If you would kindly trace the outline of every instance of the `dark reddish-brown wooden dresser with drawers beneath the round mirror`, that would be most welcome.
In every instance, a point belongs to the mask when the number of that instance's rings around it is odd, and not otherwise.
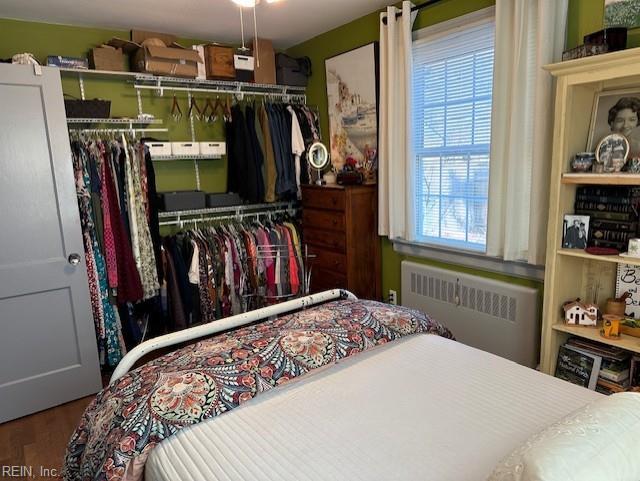
[[[302,228],[311,292],[344,288],[380,299],[380,239],[376,185],[302,186]]]

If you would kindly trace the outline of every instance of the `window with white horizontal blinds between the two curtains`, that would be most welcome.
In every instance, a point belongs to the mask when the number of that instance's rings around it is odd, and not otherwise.
[[[486,250],[493,18],[413,43],[415,238]]]

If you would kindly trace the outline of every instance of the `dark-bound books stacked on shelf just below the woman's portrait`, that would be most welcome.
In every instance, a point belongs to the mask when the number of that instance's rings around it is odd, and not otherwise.
[[[582,186],[576,189],[575,213],[590,216],[589,247],[627,250],[637,237],[640,188],[626,186]]]

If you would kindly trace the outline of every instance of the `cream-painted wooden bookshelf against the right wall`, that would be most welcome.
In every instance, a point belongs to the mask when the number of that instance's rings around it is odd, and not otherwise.
[[[619,340],[608,340],[600,336],[598,328],[571,326],[562,321],[563,303],[577,297],[591,300],[596,285],[602,309],[606,299],[615,294],[617,265],[640,266],[640,260],[561,248],[564,215],[574,212],[578,186],[640,186],[638,174],[572,173],[569,167],[572,156],[587,146],[596,95],[606,90],[640,90],[640,48],[570,60],[545,69],[556,77],[557,83],[540,368],[553,375],[558,350],[570,336],[640,353],[640,338],[623,335]]]

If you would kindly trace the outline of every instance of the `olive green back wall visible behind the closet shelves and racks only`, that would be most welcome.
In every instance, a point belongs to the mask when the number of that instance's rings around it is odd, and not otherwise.
[[[20,52],[30,52],[44,64],[47,55],[85,57],[92,47],[108,41],[111,37],[128,39],[129,32],[0,19],[0,58],[8,58]],[[180,39],[179,42],[184,46],[203,43],[192,39]],[[75,77],[63,77],[63,89],[65,94],[80,97],[80,87]],[[137,116],[135,90],[125,79],[98,80],[88,77],[85,80],[85,94],[89,99],[111,100],[112,117]],[[164,125],[152,127],[169,129],[168,133],[150,135],[163,140],[191,140],[186,117],[188,110],[186,92],[177,94],[184,114],[178,123],[174,122],[170,116],[173,95],[157,97],[152,91],[144,91],[142,98],[143,112],[164,120]],[[199,95],[196,98],[199,99],[198,104],[201,108],[204,107],[202,99],[206,96]],[[221,122],[220,120],[211,125],[196,121],[196,140],[224,140]],[[195,189],[196,177],[192,161],[156,162],[155,166],[159,191]],[[202,190],[206,192],[226,190],[226,159],[200,161],[199,166]]]

